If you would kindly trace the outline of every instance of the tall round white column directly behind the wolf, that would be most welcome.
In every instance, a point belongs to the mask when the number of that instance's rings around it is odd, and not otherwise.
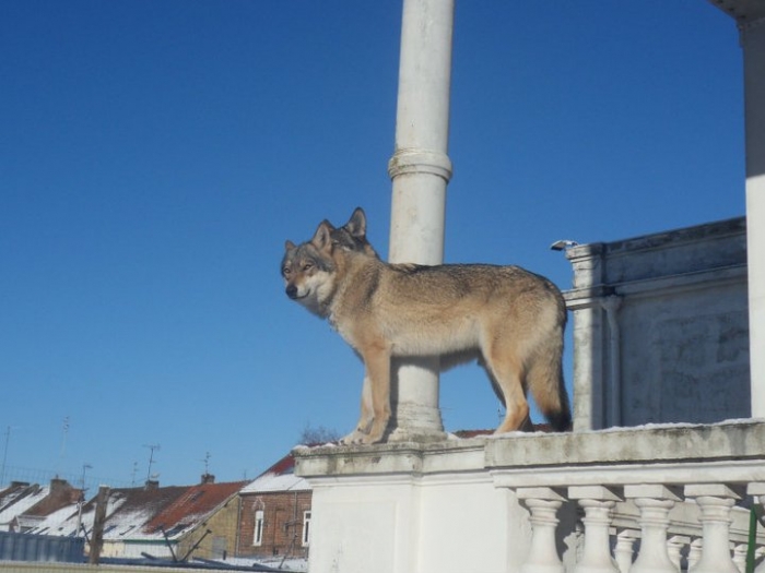
[[[404,0],[396,119],[389,261],[444,260],[454,0]],[[438,361],[396,361],[391,440],[442,439]]]

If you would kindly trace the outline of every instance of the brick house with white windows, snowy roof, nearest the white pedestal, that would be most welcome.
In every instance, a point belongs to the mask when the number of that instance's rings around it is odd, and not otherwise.
[[[290,453],[240,491],[237,556],[308,554],[311,489],[294,469]]]

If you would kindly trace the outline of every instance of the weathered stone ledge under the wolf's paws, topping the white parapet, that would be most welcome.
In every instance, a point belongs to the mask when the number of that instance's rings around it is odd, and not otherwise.
[[[624,474],[631,467],[683,464],[711,468],[745,463],[752,480],[760,473],[765,480],[765,420],[649,425],[576,433],[513,432],[436,443],[297,446],[293,454],[295,474],[308,479],[490,470],[538,474],[556,468],[589,473],[593,467],[619,468]],[[752,475],[752,463],[757,476]],[[760,466],[762,471],[756,469]]]

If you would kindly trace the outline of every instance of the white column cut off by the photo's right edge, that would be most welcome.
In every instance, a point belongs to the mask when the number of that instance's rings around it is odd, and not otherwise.
[[[765,17],[740,24],[744,57],[752,417],[765,418]]]

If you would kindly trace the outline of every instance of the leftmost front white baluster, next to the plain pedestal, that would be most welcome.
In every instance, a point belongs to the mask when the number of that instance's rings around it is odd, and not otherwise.
[[[531,545],[520,573],[564,573],[555,545],[555,514],[566,499],[552,488],[518,488],[516,494],[531,513]]]

